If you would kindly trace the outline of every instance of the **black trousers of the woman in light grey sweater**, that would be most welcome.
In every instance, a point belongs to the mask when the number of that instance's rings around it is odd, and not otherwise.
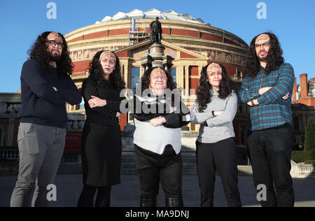
[[[196,141],[197,172],[201,191],[201,206],[214,206],[216,171],[221,177],[225,198],[229,207],[240,207],[237,149],[234,137],[217,143]]]

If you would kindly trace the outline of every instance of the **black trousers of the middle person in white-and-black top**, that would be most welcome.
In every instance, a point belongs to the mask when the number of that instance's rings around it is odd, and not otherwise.
[[[166,197],[181,198],[183,162],[172,145],[165,147],[162,155],[134,144],[135,162],[139,174],[141,197],[158,196],[160,183]]]

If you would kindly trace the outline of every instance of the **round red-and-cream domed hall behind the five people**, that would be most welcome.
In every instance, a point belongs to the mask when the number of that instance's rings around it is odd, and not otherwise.
[[[101,22],[71,31],[65,38],[69,44],[74,64],[72,78],[78,88],[87,78],[87,68],[99,50],[113,50],[120,58],[123,79],[128,88],[139,82],[144,67],[141,57],[148,55],[149,24],[159,17],[162,24],[162,45],[165,55],[171,56],[172,76],[183,93],[188,106],[193,105],[202,67],[209,62],[224,64],[230,76],[241,82],[241,70],[248,45],[238,36],[223,29],[211,27],[201,18],[179,14],[174,10],[162,13],[151,9],[138,9],[130,13],[118,12],[113,17],[105,16]],[[84,112],[80,106],[69,106],[70,112]],[[120,117],[121,127],[129,122]],[[195,131],[195,125],[189,125]]]

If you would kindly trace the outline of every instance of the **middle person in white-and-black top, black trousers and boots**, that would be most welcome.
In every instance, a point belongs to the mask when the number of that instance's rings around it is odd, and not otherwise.
[[[166,92],[173,90],[173,96],[168,96]],[[159,67],[145,71],[140,94],[133,101],[140,206],[157,206],[161,183],[166,206],[182,207],[181,127],[190,120],[189,109],[181,101],[172,76]]]

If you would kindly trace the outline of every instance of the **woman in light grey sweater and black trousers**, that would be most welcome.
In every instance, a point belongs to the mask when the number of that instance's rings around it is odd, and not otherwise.
[[[232,93],[225,67],[211,63],[202,69],[191,122],[201,124],[196,141],[201,206],[214,206],[216,170],[221,177],[228,206],[241,206],[237,187],[237,149],[232,121],[237,95]]]

